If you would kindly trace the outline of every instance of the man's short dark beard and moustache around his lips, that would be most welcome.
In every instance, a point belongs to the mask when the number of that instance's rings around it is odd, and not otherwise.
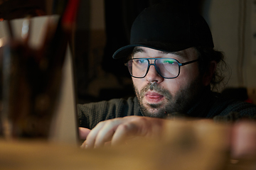
[[[203,85],[200,82],[201,79],[198,77],[191,84],[177,91],[175,95],[171,95],[168,90],[162,88],[156,82],[146,84],[141,91],[134,86],[134,90],[144,116],[165,118],[170,113],[186,115],[188,109],[191,108],[201,96]],[[143,98],[149,90],[156,91],[158,94],[164,96],[165,103],[144,103]]]

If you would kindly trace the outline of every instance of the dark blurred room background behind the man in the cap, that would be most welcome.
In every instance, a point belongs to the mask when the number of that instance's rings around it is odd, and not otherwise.
[[[147,6],[158,2],[161,0],[80,1],[70,40],[78,103],[134,96],[124,62],[113,60],[112,54],[129,44],[129,30],[134,18]],[[226,79],[217,90],[231,89],[228,94],[239,97],[241,93],[245,96],[242,100],[250,99],[256,103],[256,1],[183,2],[206,18],[215,48],[225,54]],[[61,14],[66,4],[65,0],[0,0],[0,22]]]

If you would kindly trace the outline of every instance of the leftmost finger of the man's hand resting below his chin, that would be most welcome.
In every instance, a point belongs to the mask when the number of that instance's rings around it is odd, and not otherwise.
[[[95,140],[97,137],[98,132],[102,129],[102,127],[104,127],[105,123],[107,123],[107,121],[103,121],[98,123],[95,128],[93,128],[89,135],[87,135],[86,141],[85,141],[85,146],[86,148],[93,148],[95,146]]]

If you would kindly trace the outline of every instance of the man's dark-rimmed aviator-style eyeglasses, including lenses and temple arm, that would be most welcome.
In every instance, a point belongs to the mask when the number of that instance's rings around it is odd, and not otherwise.
[[[150,64],[149,60],[154,60],[154,64]],[[173,58],[135,58],[129,60],[125,65],[129,69],[129,73],[135,78],[144,78],[149,72],[149,67],[154,65],[156,72],[164,79],[174,79],[180,74],[181,66],[197,62],[192,60],[190,62],[180,63]]]

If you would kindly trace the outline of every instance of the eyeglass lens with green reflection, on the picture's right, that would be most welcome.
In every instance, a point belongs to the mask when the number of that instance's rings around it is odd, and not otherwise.
[[[174,78],[178,76],[178,62],[174,59],[157,59],[156,69],[162,77]]]

